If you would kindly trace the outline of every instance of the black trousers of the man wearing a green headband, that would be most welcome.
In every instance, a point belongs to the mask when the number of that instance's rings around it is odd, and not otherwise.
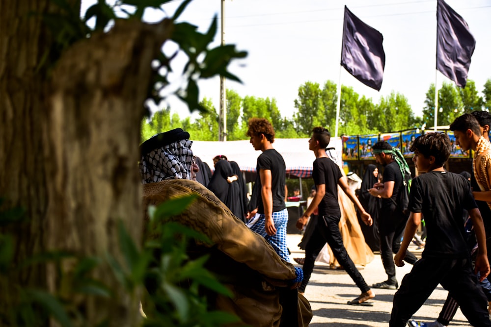
[[[397,211],[395,205],[390,208],[384,207],[380,211],[380,256],[385,274],[387,274],[387,281],[391,284],[397,283],[393,254],[401,248],[401,237],[404,235],[407,221],[408,219]],[[404,261],[413,265],[418,258],[409,251],[406,253]]]

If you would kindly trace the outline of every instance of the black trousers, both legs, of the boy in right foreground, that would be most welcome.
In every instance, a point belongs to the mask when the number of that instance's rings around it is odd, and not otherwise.
[[[406,327],[411,316],[441,284],[474,327],[491,327],[488,299],[472,271],[470,258],[426,257],[414,264],[394,295],[389,327]]]

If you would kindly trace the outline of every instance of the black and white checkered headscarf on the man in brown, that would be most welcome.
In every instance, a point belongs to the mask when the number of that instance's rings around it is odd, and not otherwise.
[[[190,140],[177,140],[142,153],[139,164],[141,182],[147,184],[164,179],[191,179],[191,145]]]

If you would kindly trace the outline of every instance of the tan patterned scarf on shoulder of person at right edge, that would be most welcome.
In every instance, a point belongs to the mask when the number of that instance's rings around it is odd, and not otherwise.
[[[472,160],[474,177],[481,191],[491,190],[491,143],[483,136],[477,141],[474,159]],[[491,208],[491,202],[487,202]]]

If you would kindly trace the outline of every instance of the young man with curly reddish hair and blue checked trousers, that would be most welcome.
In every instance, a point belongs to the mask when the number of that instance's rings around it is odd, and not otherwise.
[[[254,150],[262,152],[256,166],[254,193],[257,194],[252,194],[258,200],[257,212],[253,218],[247,216],[250,219],[247,226],[262,235],[283,260],[290,262],[286,245],[285,160],[273,149],[274,129],[267,119],[249,119],[247,136]]]

